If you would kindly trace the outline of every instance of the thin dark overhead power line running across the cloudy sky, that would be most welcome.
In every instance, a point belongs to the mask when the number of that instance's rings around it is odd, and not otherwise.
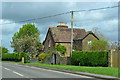
[[[116,8],[116,7],[119,7],[119,6],[103,7],[103,8],[97,8],[97,9],[89,9],[89,10],[78,10],[78,11],[73,11],[73,12],[96,11],[96,10],[103,10],[103,9]],[[38,20],[38,19],[45,19],[45,18],[60,16],[60,15],[68,14],[68,13],[71,13],[71,11],[65,12],[65,13],[60,13],[60,14],[55,14],[55,15],[50,15],[50,16],[39,17],[39,18],[21,20],[21,21],[17,21],[17,22],[18,22],[18,23],[19,23],[19,22],[28,22],[28,21]],[[13,22],[3,23],[3,24],[0,24],[0,25],[4,25],[4,24],[13,24]]]

